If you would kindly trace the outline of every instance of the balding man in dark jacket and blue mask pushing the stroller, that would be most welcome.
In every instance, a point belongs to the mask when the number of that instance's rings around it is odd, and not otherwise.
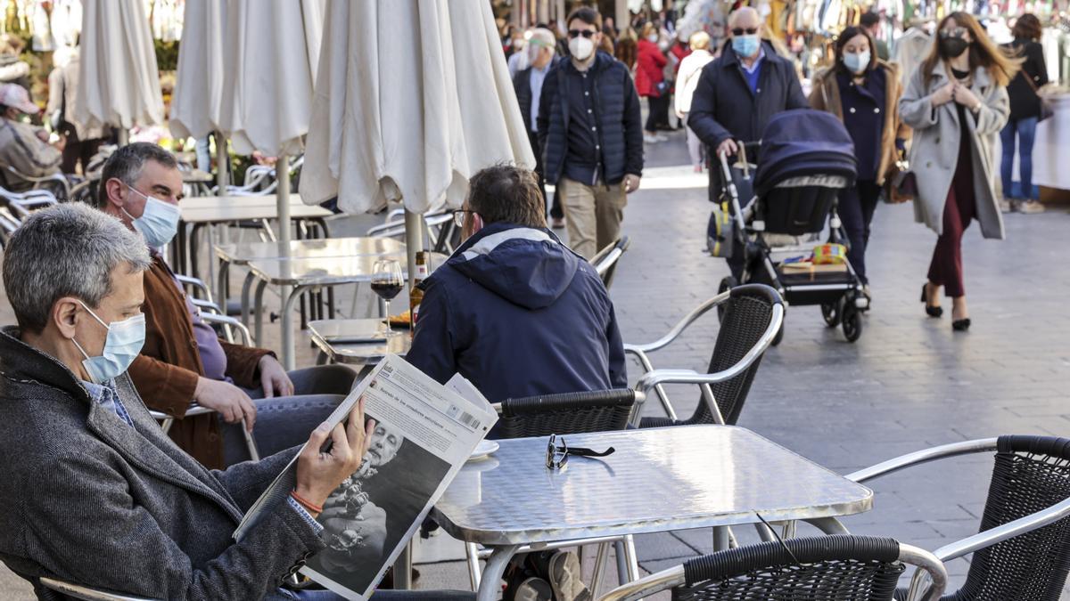
[[[691,98],[687,120],[710,154],[709,200],[717,201],[720,189],[720,168],[717,155],[738,152],[736,140],[753,142],[762,139],[769,119],[783,110],[809,108],[802,95],[795,66],[777,56],[773,45],[761,38],[762,18],[750,6],[738,9],[729,16],[732,44],[707,64],[699,77]],[[738,183],[737,183],[738,184]],[[747,190],[740,190],[740,200]],[[743,249],[737,247],[729,259],[732,275],[743,273]]]

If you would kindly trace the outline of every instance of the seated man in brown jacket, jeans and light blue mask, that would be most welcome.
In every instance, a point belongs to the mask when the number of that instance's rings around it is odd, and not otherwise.
[[[349,394],[355,373],[345,366],[287,373],[271,351],[230,344],[201,321],[158,251],[177,232],[181,198],[178,163],[155,144],[123,147],[104,166],[100,209],[140,232],[152,253],[134,385],[150,409],[179,418],[171,438],[208,467],[248,459],[243,422],[264,456],[301,444]],[[184,417],[195,402],[216,414]]]

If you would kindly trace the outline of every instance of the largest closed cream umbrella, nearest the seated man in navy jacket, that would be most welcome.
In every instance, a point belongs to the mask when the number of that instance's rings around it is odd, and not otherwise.
[[[460,206],[479,169],[535,165],[490,3],[331,0],[323,35],[302,199],[400,200],[412,278],[417,214]]]

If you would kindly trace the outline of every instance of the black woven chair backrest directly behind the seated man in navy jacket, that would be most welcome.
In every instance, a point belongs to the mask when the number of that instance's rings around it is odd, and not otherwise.
[[[505,399],[496,428],[501,438],[624,430],[635,404],[628,388]]]

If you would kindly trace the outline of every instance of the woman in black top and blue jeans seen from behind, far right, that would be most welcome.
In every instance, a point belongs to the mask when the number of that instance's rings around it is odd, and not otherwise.
[[[1018,18],[1011,30],[1014,41],[1006,47],[1012,56],[1024,59],[1022,71],[1007,86],[1010,96],[1010,119],[999,133],[1003,145],[1003,163],[999,175],[1003,180],[1005,211],[1019,213],[1041,213],[1044,205],[1033,194],[1033,142],[1037,134],[1037,123],[1041,115],[1038,90],[1048,83],[1048,65],[1044,64],[1044,49],[1040,46],[1042,33],[1040,19],[1026,13]],[[1013,192],[1014,141],[1018,138],[1019,194]]]

